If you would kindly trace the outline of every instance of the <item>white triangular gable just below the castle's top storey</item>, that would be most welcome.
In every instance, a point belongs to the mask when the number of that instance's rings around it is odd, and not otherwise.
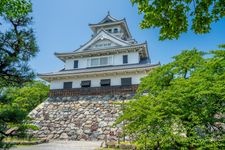
[[[96,47],[97,43],[104,43],[102,41],[108,41],[108,43],[110,42],[112,44],[112,46],[129,46],[131,45],[130,43],[117,38],[111,34],[109,34],[108,32],[106,32],[105,30],[101,30],[95,37],[93,37],[90,41],[88,41],[86,44],[84,44],[82,47],[80,47],[79,49],[77,49],[75,52],[82,52],[84,50],[91,50],[91,49],[102,49],[101,46]],[[104,46],[104,45],[103,45]],[[106,46],[107,48],[110,46]],[[106,48],[104,47],[104,48]]]

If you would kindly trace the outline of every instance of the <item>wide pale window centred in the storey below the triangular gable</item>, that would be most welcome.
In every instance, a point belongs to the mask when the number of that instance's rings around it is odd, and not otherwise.
[[[107,66],[112,64],[112,56],[90,58],[87,60],[88,67]]]

